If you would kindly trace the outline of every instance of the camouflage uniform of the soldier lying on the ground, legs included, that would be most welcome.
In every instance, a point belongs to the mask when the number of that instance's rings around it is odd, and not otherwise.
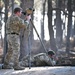
[[[39,53],[31,57],[31,65],[32,66],[54,66],[56,65],[56,61],[49,57],[46,53]],[[20,62],[22,66],[28,66],[28,56],[24,57]]]

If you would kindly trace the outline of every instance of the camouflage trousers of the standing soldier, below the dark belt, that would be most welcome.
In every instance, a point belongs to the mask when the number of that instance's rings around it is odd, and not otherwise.
[[[9,65],[10,63],[13,63],[13,65],[16,66],[19,64],[19,56],[20,56],[19,35],[16,34],[7,35],[7,43],[8,43],[8,50],[4,59],[4,64]]]

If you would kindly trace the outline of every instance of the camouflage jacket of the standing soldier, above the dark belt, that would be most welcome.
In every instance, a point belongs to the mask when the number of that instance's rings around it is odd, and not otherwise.
[[[20,29],[26,29],[24,21],[15,14],[8,18],[6,23],[6,33],[20,33]]]

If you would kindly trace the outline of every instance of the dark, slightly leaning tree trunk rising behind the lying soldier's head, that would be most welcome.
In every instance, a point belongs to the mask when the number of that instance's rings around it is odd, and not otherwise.
[[[54,39],[54,31],[52,27],[52,0],[48,0],[48,29],[51,49],[57,52],[56,43]]]

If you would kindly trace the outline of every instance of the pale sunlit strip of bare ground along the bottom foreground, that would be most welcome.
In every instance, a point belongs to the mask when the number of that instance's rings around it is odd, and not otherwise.
[[[32,67],[31,69],[14,71],[13,69],[0,69],[0,75],[75,75],[75,67]]]

